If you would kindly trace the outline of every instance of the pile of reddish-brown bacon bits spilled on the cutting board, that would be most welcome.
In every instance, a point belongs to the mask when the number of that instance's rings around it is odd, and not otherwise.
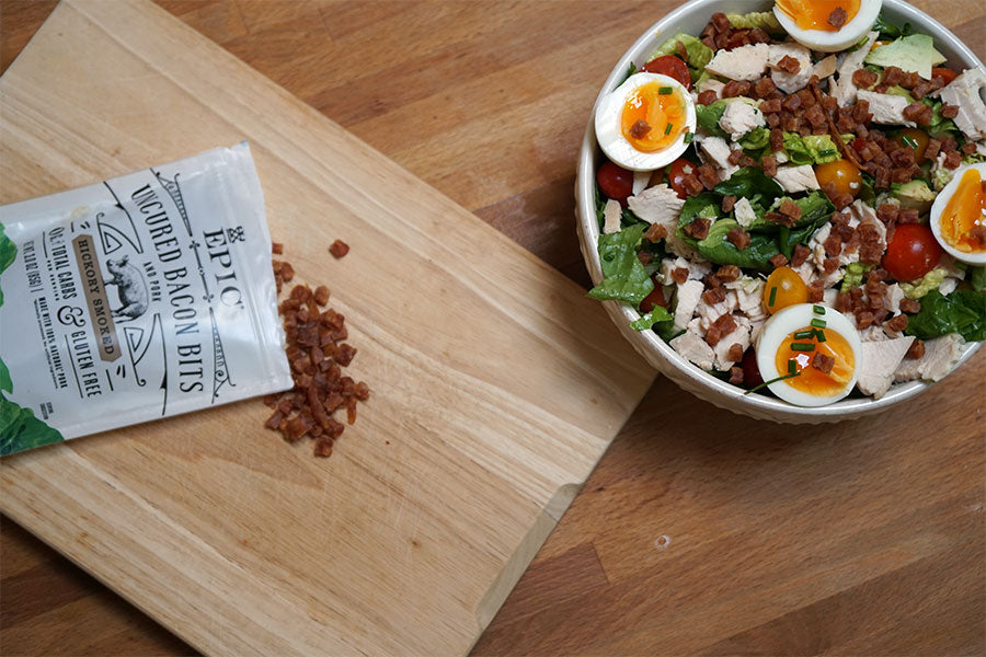
[[[336,241],[346,246],[343,242]],[[273,251],[280,255],[284,246],[274,243]],[[295,269],[287,262],[274,261],[274,278],[277,291],[295,277]],[[329,457],[332,446],[345,430],[345,425],[333,415],[346,410],[346,423],[356,422],[356,403],[369,399],[369,388],[363,381],[343,376],[356,356],[356,348],[343,342],[348,337],[346,320],[331,308],[329,288],[320,285],[312,290],[307,285],[296,285],[280,302],[278,311],[287,337],[287,357],[291,366],[295,387],[287,392],[268,394],[264,403],[274,408],[264,424],[280,431],[288,442],[297,442],[308,436],[314,439],[314,454]]]

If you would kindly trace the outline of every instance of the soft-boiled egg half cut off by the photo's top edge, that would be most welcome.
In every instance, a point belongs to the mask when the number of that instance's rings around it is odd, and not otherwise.
[[[882,4],[882,0],[777,0],[773,15],[801,45],[837,53],[862,41]]]

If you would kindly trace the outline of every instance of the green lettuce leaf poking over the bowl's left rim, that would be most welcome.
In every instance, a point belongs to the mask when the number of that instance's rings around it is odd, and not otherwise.
[[[623,301],[637,308],[654,289],[647,270],[637,257],[645,224],[638,223],[618,233],[599,235],[603,281],[588,291],[593,299]]]

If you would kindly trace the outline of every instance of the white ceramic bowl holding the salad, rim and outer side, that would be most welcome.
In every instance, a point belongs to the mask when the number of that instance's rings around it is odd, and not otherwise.
[[[724,13],[747,13],[750,11],[770,11],[773,2],[770,0],[692,0],[683,4],[675,11],[664,16],[652,25],[637,39],[620,60],[614,66],[609,78],[596,99],[599,99],[617,88],[627,74],[632,61],[638,67],[646,64],[646,57],[654,51],[664,41],[679,32],[698,35],[709,22],[709,18],[716,11]],[[883,0],[884,16],[893,23],[902,25],[910,23],[917,32],[930,34],[935,38],[935,47],[948,58],[948,65],[953,68],[982,67],[978,58],[955,35],[945,30],[938,21],[918,11],[914,7],[901,0]],[[593,107],[595,116],[595,106]],[[599,239],[599,226],[596,220],[594,207],[596,162],[600,157],[596,145],[596,136],[593,129],[593,117],[589,117],[588,128],[582,142],[582,151],[578,155],[578,175],[575,181],[575,214],[577,217],[578,237],[582,254],[588,267],[593,281],[598,284],[603,279],[603,270],[599,265],[599,254],[596,243]],[[847,399],[829,406],[805,408],[794,406],[772,396],[758,393],[744,394],[744,391],[725,381],[721,381],[708,374],[678,356],[653,331],[637,332],[629,324],[640,315],[633,309],[627,308],[617,301],[604,301],[609,316],[619,326],[623,336],[630,344],[661,373],[672,379],[675,383],[691,392],[696,396],[708,402],[733,411],[761,419],[770,419],[782,423],[809,423],[818,424],[825,422],[839,422],[880,413],[913,399],[922,393],[930,385],[920,381],[895,384],[883,397]],[[981,343],[970,343],[959,365],[966,361],[979,348]],[[956,366],[958,367],[958,366]]]

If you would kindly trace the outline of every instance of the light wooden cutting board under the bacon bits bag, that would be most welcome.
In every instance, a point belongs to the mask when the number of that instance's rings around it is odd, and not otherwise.
[[[329,460],[251,401],[4,459],[0,509],[206,653],[465,653],[653,380],[601,309],[147,2],[62,1],[0,116],[2,203],[250,140],[374,391]]]

